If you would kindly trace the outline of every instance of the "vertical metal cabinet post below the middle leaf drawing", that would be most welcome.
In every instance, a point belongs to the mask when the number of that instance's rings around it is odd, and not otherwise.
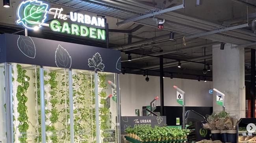
[[[73,80],[72,70],[69,70],[69,116],[70,116],[70,143],[74,143],[74,112],[73,112]]]

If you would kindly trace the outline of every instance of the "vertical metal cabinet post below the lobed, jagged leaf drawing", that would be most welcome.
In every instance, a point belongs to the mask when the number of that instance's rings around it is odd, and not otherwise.
[[[98,97],[98,73],[94,74],[95,87],[95,120],[96,120],[96,143],[100,143],[100,117],[99,117],[99,97]]]

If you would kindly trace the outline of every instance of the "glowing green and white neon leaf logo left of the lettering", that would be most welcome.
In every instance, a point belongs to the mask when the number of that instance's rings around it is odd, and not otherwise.
[[[46,20],[48,4],[38,0],[27,0],[20,3],[17,9],[17,24],[26,29],[38,29]]]

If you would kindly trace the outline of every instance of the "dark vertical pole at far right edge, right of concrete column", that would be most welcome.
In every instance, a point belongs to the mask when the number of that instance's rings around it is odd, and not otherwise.
[[[255,117],[255,49],[250,51],[250,117]]]

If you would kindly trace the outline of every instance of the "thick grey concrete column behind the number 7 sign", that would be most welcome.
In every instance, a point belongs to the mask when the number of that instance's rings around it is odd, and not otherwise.
[[[225,49],[213,45],[213,88],[225,94],[226,112],[245,118],[245,57],[244,48],[231,49],[234,46],[225,44]],[[216,104],[216,93],[213,94],[213,112],[222,111]]]

